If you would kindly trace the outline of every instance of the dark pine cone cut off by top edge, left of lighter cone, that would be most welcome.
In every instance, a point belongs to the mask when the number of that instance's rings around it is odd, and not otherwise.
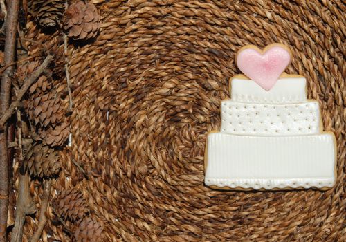
[[[64,0],[35,0],[30,2],[30,13],[40,26],[55,27],[60,25],[65,10]]]

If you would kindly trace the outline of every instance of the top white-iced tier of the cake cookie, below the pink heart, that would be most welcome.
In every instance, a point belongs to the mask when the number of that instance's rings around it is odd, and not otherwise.
[[[266,91],[253,80],[233,77],[230,98],[236,102],[289,104],[307,100],[307,81],[304,77],[284,77]]]

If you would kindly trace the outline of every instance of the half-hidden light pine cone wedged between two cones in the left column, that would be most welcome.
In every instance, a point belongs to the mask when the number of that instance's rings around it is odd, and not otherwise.
[[[62,145],[69,137],[70,127],[68,122],[62,122],[62,124],[55,127],[49,127],[48,129],[39,129],[38,135],[33,133],[34,140],[42,140],[44,145],[51,147]]]

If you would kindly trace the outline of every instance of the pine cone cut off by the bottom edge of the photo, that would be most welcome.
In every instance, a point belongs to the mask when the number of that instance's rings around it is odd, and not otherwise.
[[[77,225],[75,225],[73,231],[73,241],[78,242],[89,242],[95,241],[100,242],[104,241],[103,231],[103,223],[102,221],[97,220],[91,216],[83,218],[78,221]]]

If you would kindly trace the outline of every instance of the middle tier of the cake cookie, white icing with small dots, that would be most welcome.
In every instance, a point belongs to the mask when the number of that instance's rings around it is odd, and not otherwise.
[[[320,133],[320,107],[308,100],[297,104],[221,102],[221,133],[292,136]]]

